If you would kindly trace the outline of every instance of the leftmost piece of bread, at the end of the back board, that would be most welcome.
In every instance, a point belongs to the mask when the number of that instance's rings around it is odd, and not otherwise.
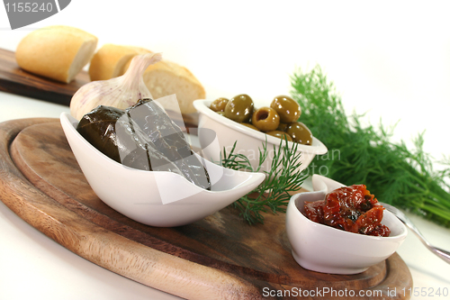
[[[92,59],[98,39],[70,26],[49,26],[23,38],[15,51],[19,67],[69,83]]]

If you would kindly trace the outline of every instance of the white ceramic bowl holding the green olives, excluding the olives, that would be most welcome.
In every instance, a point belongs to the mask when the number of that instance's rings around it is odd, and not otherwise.
[[[228,118],[213,112],[209,108],[211,102],[212,101],[209,100],[196,100],[193,102],[193,106],[199,113],[198,136],[203,149],[203,157],[205,159],[211,159],[211,161],[218,162],[220,161],[220,151],[225,148],[227,153],[229,153],[233,147],[233,144],[236,142],[235,153],[240,153],[247,156],[252,163],[252,167],[257,168],[259,150],[263,149],[263,145],[267,141],[269,156],[268,159],[266,159],[262,170],[270,170],[274,154],[274,146],[275,149],[278,150],[281,140],[263,132],[257,132],[256,130],[250,129],[247,126],[229,120]],[[211,131],[202,132],[202,129],[210,129],[212,132],[216,133],[217,141],[219,141],[219,148],[211,147]],[[292,148],[294,143],[289,141],[288,145]],[[325,147],[325,145],[318,139],[313,138],[311,146],[297,144],[297,151],[302,152],[302,157],[300,159],[302,165],[297,168],[298,171],[301,171],[302,169],[308,167],[316,154],[327,153],[327,147]]]

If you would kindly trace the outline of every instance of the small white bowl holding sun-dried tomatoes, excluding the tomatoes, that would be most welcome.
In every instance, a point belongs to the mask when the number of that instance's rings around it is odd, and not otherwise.
[[[305,201],[323,200],[341,186],[338,182],[313,175],[314,192],[293,195],[286,212],[286,232],[293,258],[303,267],[321,273],[356,274],[389,258],[408,233],[405,225],[387,210],[382,223],[389,227],[389,237],[345,232],[312,222],[303,213]]]

